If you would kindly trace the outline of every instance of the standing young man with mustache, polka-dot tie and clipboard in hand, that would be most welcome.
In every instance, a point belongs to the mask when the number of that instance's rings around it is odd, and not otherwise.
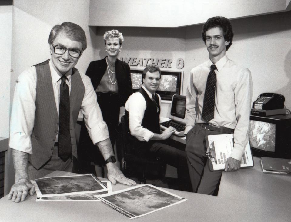
[[[213,195],[222,171],[210,171],[205,137],[234,134],[234,148],[224,171],[240,168],[248,143],[252,78],[247,68],[226,56],[233,32],[227,18],[209,18],[202,28],[202,39],[209,60],[190,72],[186,91],[186,157],[194,192]]]

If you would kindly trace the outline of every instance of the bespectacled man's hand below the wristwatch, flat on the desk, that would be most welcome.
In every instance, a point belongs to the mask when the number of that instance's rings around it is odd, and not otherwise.
[[[106,164],[108,169],[107,177],[111,181],[112,184],[116,184],[116,182],[119,182],[121,184],[126,185],[136,185],[136,182],[125,177],[123,173],[119,170],[119,168],[116,166],[115,163],[108,163]]]

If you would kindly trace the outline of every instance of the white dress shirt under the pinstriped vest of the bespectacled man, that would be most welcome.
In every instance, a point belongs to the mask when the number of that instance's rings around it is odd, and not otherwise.
[[[52,86],[55,96],[55,104],[59,114],[60,84],[62,74],[52,66],[49,61],[49,68],[52,77]],[[66,74],[68,80],[66,84],[71,92],[71,73]],[[86,127],[90,138],[95,144],[109,138],[108,128],[103,121],[100,107],[97,103],[97,96],[88,76],[81,73],[81,78],[85,86],[85,94],[81,105],[81,112],[84,116]],[[16,80],[15,92],[12,103],[10,120],[10,141],[9,147],[25,153],[32,154],[31,135],[35,120],[35,98],[36,98],[36,69],[35,66],[22,72]],[[56,140],[58,141],[58,135]]]

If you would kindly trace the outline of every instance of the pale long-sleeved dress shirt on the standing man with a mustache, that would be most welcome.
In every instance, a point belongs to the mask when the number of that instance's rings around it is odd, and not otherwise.
[[[190,72],[186,91],[185,134],[202,119],[206,81],[212,62],[210,59]],[[249,115],[253,84],[251,72],[240,67],[225,55],[216,62],[216,92],[214,118],[209,121],[217,126],[234,129],[234,148],[230,157],[241,160],[244,147],[249,141]]]

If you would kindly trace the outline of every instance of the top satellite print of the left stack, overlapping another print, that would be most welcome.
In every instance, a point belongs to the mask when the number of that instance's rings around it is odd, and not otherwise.
[[[106,191],[107,187],[94,175],[45,177],[31,181],[37,197],[54,197]]]

